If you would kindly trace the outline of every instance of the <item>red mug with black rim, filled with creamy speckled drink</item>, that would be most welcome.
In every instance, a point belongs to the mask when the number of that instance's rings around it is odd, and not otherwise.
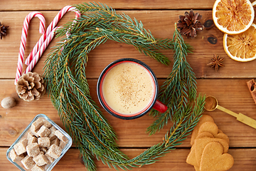
[[[114,117],[132,120],[154,108],[164,113],[167,106],[157,100],[158,82],[149,66],[134,58],[110,63],[97,81],[102,107]]]

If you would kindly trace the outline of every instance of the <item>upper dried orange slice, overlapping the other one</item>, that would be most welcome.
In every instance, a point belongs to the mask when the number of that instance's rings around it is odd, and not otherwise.
[[[215,26],[228,34],[246,31],[255,17],[255,11],[249,0],[216,0],[213,5]]]

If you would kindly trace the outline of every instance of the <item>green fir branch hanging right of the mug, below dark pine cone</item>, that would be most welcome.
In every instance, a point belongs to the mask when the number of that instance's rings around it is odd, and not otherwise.
[[[165,113],[159,113],[157,110],[151,110],[150,115],[156,118],[147,132],[149,135],[156,133],[167,125],[168,120],[176,121],[182,117],[182,110],[186,105],[196,98],[196,76],[191,66],[186,61],[186,56],[191,52],[188,46],[177,31],[174,31],[174,66],[169,77],[161,86],[159,100],[166,103],[168,110]]]

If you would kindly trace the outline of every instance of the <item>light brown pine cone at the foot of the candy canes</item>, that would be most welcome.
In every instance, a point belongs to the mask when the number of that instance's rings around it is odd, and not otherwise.
[[[46,88],[43,86],[43,77],[38,73],[24,73],[18,78],[16,92],[23,100],[38,100],[41,95],[46,93]]]

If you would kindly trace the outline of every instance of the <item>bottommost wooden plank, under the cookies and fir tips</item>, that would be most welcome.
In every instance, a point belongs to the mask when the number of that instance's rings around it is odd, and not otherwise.
[[[12,165],[9,160],[6,158],[6,150],[7,148],[0,148],[0,165],[4,170],[18,170],[15,165]],[[136,157],[144,149],[122,149],[124,154],[128,155],[128,157]],[[193,171],[193,166],[188,165],[186,163],[186,157],[189,153],[190,149],[176,149],[167,153],[164,157],[160,157],[159,161],[152,165],[144,165],[141,168],[134,168],[134,171],[154,171],[156,168],[161,168],[163,171],[180,171],[181,168],[184,171]],[[233,155],[235,163],[230,171],[240,171],[241,168],[243,170],[254,170],[256,167],[255,161],[255,152],[256,149],[248,148],[248,149],[230,149],[228,153]],[[114,169],[110,169],[107,165],[103,165],[101,161],[95,161],[97,165],[98,171],[110,171]],[[82,163],[82,159],[79,155],[79,150],[71,148],[68,152],[60,159],[57,165],[53,168],[54,170],[85,170],[85,166]]]

